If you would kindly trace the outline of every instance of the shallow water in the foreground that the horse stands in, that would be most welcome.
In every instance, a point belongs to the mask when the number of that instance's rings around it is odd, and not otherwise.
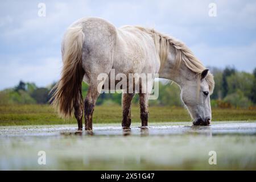
[[[256,122],[138,126],[94,125],[93,132],[76,125],[0,127],[0,169],[256,169]],[[45,165],[38,163],[39,151]]]

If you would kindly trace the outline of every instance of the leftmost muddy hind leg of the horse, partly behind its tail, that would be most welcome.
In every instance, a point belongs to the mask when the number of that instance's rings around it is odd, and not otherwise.
[[[78,123],[78,130],[82,130],[82,113],[83,113],[83,104],[82,104],[82,95],[81,93],[77,96],[77,100],[74,105],[75,117]]]

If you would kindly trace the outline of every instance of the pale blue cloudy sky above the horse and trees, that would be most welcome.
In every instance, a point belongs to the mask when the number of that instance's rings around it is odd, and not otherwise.
[[[39,16],[39,3],[46,16]],[[217,16],[209,16],[215,3]],[[19,80],[46,86],[61,71],[60,42],[76,19],[153,27],[182,40],[207,66],[256,67],[256,1],[1,1],[0,89]]]

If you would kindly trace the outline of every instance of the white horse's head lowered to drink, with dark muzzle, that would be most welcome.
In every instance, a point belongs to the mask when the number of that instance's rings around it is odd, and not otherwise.
[[[210,74],[208,71],[209,69],[205,69],[199,78],[189,79],[181,87],[181,99],[193,118],[193,125],[207,126],[212,119],[210,108],[212,90],[209,89],[210,85],[207,81],[207,75]]]

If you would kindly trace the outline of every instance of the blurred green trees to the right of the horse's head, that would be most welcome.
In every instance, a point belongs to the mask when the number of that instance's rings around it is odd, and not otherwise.
[[[256,104],[256,68],[253,73],[238,72],[234,67],[212,68],[215,88],[212,105],[250,107]]]

